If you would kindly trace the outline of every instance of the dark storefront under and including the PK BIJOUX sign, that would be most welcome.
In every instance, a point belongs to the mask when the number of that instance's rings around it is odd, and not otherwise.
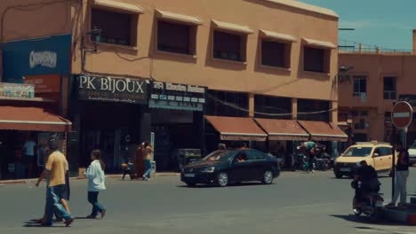
[[[119,171],[137,146],[150,140],[148,81],[74,74],[70,87],[69,154],[76,167],[86,167],[90,152],[100,149],[107,171]]]

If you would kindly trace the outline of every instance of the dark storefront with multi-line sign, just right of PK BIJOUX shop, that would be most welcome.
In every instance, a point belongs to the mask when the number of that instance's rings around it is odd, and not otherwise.
[[[202,156],[205,88],[153,82],[148,106],[159,171],[176,170],[184,151]]]

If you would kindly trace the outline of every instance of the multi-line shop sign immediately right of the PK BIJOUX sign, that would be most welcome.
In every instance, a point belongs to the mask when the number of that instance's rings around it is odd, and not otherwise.
[[[149,107],[202,112],[205,90],[195,85],[153,82]]]

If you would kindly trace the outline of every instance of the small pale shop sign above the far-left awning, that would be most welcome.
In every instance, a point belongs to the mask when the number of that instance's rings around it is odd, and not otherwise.
[[[32,84],[0,82],[0,97],[35,98],[35,86]]]

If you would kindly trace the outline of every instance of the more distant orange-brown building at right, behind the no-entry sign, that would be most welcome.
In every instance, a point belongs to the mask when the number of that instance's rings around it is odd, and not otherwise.
[[[340,51],[340,66],[352,66],[340,76],[340,121],[351,120],[355,141],[390,141],[391,111],[396,100],[407,100],[414,108],[416,89],[416,30],[412,51]],[[413,109],[414,110],[414,109]],[[414,110],[416,112],[416,110]],[[408,129],[408,142],[416,139],[414,121]]]

